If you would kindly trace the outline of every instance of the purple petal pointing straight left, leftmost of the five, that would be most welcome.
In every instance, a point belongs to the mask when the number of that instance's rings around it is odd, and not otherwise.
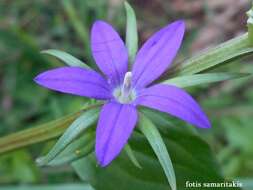
[[[95,71],[84,68],[61,67],[41,73],[34,80],[43,87],[63,93],[96,99],[112,96],[106,80]]]

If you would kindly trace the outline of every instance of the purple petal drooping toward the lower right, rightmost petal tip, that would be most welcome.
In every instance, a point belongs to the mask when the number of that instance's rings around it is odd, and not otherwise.
[[[198,103],[184,90],[175,86],[155,85],[142,89],[136,104],[169,113],[200,128],[211,127]]]

